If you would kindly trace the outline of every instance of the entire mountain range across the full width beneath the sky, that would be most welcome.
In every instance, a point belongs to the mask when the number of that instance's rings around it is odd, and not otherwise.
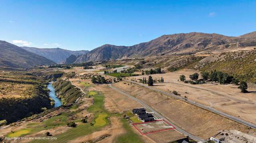
[[[185,55],[200,51],[216,51],[256,46],[256,31],[238,37],[216,33],[179,33],[162,35],[133,46],[102,45],[92,51],[70,51],[60,48],[18,47],[0,41],[0,68],[20,69],[55,63],[83,63],[112,59],[144,58],[153,55]]]

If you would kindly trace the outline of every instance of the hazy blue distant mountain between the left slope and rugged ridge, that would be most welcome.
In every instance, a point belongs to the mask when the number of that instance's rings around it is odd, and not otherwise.
[[[55,63],[61,63],[66,60],[70,55],[83,55],[88,53],[87,50],[70,51],[60,48],[35,48],[35,47],[22,47],[23,49],[35,53],[40,56],[44,56],[47,59],[54,61]]]

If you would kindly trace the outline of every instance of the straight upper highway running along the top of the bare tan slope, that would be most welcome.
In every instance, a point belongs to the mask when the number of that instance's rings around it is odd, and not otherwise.
[[[216,110],[216,109],[214,109],[214,108],[211,108],[211,107],[209,107],[209,106],[205,106],[205,105],[199,104],[199,103],[194,102],[194,101],[192,101],[192,100],[188,100],[188,99],[185,100],[185,99],[183,99],[182,97],[177,96],[177,95],[175,95],[175,94],[173,94],[173,93],[166,92],[166,91],[159,90],[159,89],[155,89],[155,88],[153,88],[153,87],[151,87],[151,86],[147,86],[147,85],[142,84],[142,83],[139,83],[139,82],[130,81],[130,80],[124,80],[124,81],[126,81],[126,82],[131,82],[131,83],[134,83],[134,84],[139,84],[140,86],[143,86],[143,87],[145,87],[145,88],[148,88],[148,89],[151,89],[151,90],[160,92],[160,93],[165,94],[165,95],[167,95],[167,96],[172,96],[172,97],[174,97],[174,98],[177,98],[177,99],[182,100],[182,101],[184,101],[184,102],[187,102],[187,103],[189,103],[189,104],[193,104],[193,105],[195,105],[195,106],[198,106],[198,107],[203,108],[203,109],[205,109],[205,110],[211,111],[211,112],[216,113],[216,114],[218,114],[218,115],[220,115],[220,116],[223,116],[223,117],[225,117],[225,118],[231,119],[231,120],[233,120],[233,121],[236,121],[236,122],[238,122],[238,123],[242,123],[242,124],[244,124],[244,125],[246,125],[246,126],[249,126],[249,127],[252,127],[252,128],[254,128],[254,129],[256,129],[256,125],[254,125],[254,124],[252,124],[252,123],[249,123],[248,121],[244,121],[244,120],[242,120],[242,119],[236,118],[236,117],[234,117],[234,116],[231,116],[231,115],[229,115],[229,114],[226,114],[226,113],[224,113],[224,112],[221,112],[221,111],[219,111],[219,110]]]

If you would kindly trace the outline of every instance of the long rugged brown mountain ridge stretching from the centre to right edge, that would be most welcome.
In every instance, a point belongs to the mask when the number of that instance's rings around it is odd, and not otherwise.
[[[179,33],[163,35],[149,42],[133,46],[103,45],[80,55],[74,63],[105,61],[120,58],[140,58],[151,55],[180,55],[200,51],[214,51],[256,45],[256,32],[239,37],[229,37],[216,33]]]

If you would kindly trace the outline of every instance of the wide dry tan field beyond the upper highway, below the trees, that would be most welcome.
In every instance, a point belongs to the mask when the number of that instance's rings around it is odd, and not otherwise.
[[[256,93],[241,93],[237,85],[234,84],[196,84],[183,83],[177,81],[181,74],[189,79],[189,75],[193,74],[194,70],[181,70],[177,72],[168,72],[166,74],[152,74],[153,79],[164,78],[165,83],[156,83],[153,88],[165,90],[167,92],[177,91],[182,97],[187,97],[206,106],[211,106],[222,112],[244,119],[256,124]],[[132,78],[142,79],[148,76],[136,76]],[[248,84],[248,91],[255,91],[254,84]],[[152,97],[153,98],[153,97]]]

